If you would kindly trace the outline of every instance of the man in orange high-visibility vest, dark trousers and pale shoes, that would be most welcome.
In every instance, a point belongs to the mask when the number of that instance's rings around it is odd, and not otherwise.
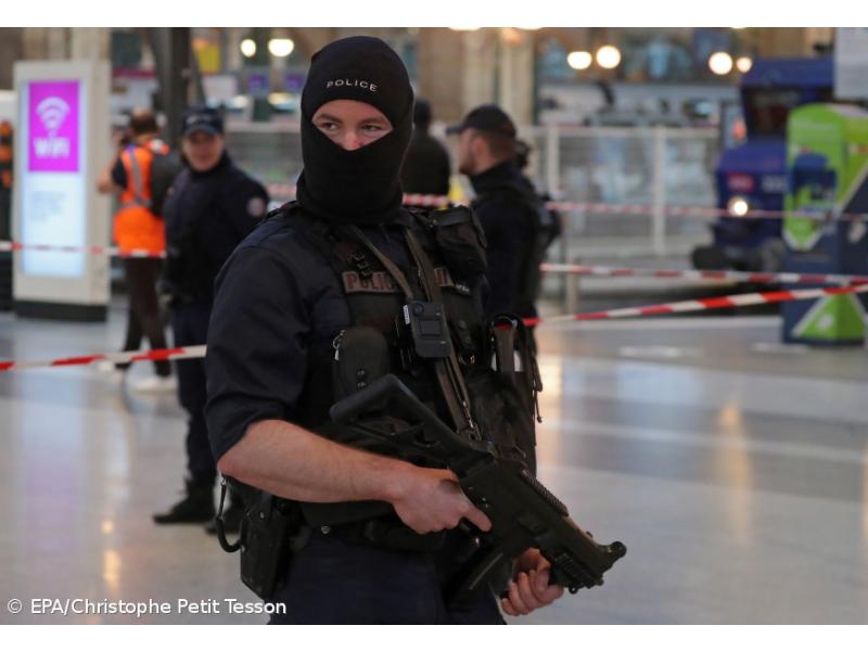
[[[151,178],[155,156],[168,155],[169,149],[158,138],[156,116],[149,108],[137,108],[129,117],[126,133],[114,162],[105,168],[97,189],[108,194],[119,194],[120,206],[114,218],[114,241],[122,253],[133,250],[146,252],[151,257],[125,257],[124,277],[129,296],[127,334],[124,350],[138,350],[142,339],[148,337],[151,348],[165,348],[166,334],[159,317],[156,284],[163,270],[158,257],[166,248],[166,233],[162,215],[151,205]],[[120,370],[129,363],[119,363]],[[101,369],[112,370],[106,362]],[[171,365],[154,360],[155,375],[135,385],[138,391],[174,391]]]

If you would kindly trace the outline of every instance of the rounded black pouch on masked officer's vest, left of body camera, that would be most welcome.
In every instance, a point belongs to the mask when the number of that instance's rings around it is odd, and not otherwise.
[[[347,328],[334,340],[335,401],[365,388],[388,369],[388,343],[383,333],[370,326]]]

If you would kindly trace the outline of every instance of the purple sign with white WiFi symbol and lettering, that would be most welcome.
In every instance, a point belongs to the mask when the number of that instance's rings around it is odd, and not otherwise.
[[[30,81],[29,171],[78,171],[79,81]]]

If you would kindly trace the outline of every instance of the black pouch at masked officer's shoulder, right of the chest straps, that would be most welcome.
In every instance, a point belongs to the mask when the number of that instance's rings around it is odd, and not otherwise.
[[[450,271],[463,279],[485,273],[488,242],[473,210],[467,206],[434,210],[425,221]]]

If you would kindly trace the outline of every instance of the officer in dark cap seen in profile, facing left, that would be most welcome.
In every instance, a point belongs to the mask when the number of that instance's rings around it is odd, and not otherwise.
[[[447,132],[458,135],[458,169],[470,177],[476,193],[471,205],[488,240],[486,311],[534,318],[539,199],[515,165],[515,125],[499,106],[484,104]]]

